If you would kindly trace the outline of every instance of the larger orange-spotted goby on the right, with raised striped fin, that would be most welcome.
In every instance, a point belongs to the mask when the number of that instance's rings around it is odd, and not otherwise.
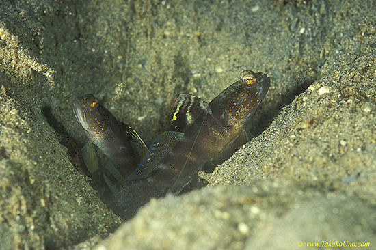
[[[178,139],[168,147],[158,144],[150,148],[150,152],[163,149],[166,153],[146,155],[135,173],[149,169],[148,178],[125,186],[116,195],[119,204],[127,204],[131,212],[131,206],[137,210],[151,197],[167,192],[177,195],[204,163],[237,138],[243,138],[245,126],[267,94],[270,78],[251,70],[242,71],[239,78],[209,103],[187,94],[178,97],[172,108],[172,122],[182,132],[174,134]]]

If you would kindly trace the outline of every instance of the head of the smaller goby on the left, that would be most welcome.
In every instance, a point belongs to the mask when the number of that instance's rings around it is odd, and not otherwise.
[[[104,133],[115,119],[93,94],[75,98],[72,107],[77,121],[91,135]]]

